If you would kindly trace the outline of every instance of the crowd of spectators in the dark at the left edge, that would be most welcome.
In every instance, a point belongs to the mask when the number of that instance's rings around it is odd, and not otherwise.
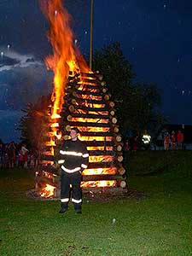
[[[0,143],[0,168],[34,168],[38,163],[38,151],[30,152],[25,143]]]

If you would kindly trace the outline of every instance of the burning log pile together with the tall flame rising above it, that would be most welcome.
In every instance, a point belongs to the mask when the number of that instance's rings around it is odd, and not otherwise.
[[[54,73],[54,89],[49,106],[49,133],[41,166],[36,172],[36,189],[43,197],[60,195],[60,168],[54,155],[69,131],[77,127],[80,140],[90,153],[83,172],[82,188],[126,189],[119,125],[114,103],[99,73],[92,73],[74,44],[71,16],[61,0],[40,1],[49,21],[49,42],[53,55],[46,58]],[[44,141],[46,141],[44,139]]]

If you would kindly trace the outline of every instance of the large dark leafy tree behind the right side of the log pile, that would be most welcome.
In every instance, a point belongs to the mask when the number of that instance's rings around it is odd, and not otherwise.
[[[104,75],[115,102],[120,129],[143,132],[150,122],[159,122],[160,90],[155,84],[133,84],[136,75],[126,60],[119,43],[97,50],[93,67]]]

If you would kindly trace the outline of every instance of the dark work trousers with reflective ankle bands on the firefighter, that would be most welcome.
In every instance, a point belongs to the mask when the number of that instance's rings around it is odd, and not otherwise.
[[[72,194],[72,202],[75,210],[81,209],[82,190],[80,188],[81,173],[61,172],[61,207],[68,207],[70,195]],[[71,188],[70,188],[71,185]]]

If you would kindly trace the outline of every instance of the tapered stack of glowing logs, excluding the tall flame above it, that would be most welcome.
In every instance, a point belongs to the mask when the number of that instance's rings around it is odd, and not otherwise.
[[[62,140],[69,138],[72,127],[78,127],[79,139],[85,141],[90,154],[89,166],[83,172],[83,190],[126,188],[119,125],[101,77],[98,73],[69,76],[60,116],[51,119],[49,142],[36,177],[37,189],[46,183],[55,187],[55,196],[59,195],[59,168],[54,165],[53,152],[60,148]]]

